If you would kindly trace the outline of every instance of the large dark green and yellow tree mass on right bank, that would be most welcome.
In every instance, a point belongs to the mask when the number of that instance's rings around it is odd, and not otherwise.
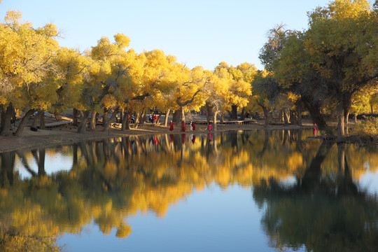
[[[332,129],[324,112],[336,113],[342,137],[349,113],[373,113],[378,104],[378,1],[335,0],[308,17],[307,30],[269,32],[256,99],[267,111],[280,102],[284,111],[295,104],[298,114],[304,107],[325,134]]]

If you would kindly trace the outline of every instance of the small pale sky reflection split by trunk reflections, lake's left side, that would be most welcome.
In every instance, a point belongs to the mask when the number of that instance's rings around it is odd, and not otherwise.
[[[38,153],[38,151],[37,151]],[[29,155],[27,157],[27,164],[30,169],[34,172],[38,172],[38,164],[33,156]],[[50,152],[45,154],[45,172],[48,175],[54,174],[60,171],[69,171],[72,165],[72,156],[62,155],[60,152],[55,152],[54,155],[51,155]],[[15,158],[15,171],[20,174],[22,179],[31,179],[31,174],[25,169],[24,165],[18,155]]]

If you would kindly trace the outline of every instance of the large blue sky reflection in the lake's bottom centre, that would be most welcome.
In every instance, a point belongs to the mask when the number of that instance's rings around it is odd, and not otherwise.
[[[169,207],[163,218],[137,214],[127,218],[132,233],[118,239],[116,230],[103,235],[94,223],[81,235],[64,235],[63,251],[276,251],[262,232],[252,190],[212,183]],[[289,251],[289,250],[288,250]],[[301,251],[301,250],[299,250]]]

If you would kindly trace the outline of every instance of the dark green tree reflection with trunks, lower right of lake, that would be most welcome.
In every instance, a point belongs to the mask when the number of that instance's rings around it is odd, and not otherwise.
[[[378,251],[378,201],[351,176],[346,146],[337,145],[334,174],[323,162],[332,144],[323,142],[303,176],[287,187],[270,179],[255,186],[253,198],[266,204],[262,226],[272,246],[307,251]]]

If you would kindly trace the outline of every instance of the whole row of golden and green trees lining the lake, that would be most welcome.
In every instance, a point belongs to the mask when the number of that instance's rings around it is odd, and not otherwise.
[[[135,52],[124,34],[116,34],[113,42],[102,37],[80,52],[59,46],[55,25],[35,29],[20,12],[8,11],[0,25],[0,134],[9,134],[15,109],[25,113],[15,132],[19,136],[25,118],[35,111],[40,112],[36,120],[43,120],[43,111],[72,110],[74,123],[81,111],[78,132],[83,133],[94,130],[99,113],[104,131],[118,113],[121,130],[127,130],[130,115],[136,115],[138,125],[151,108],[165,112],[165,125],[169,113],[179,123],[187,111],[204,109],[215,130],[218,115],[237,119],[239,112],[244,120],[248,112],[260,110],[267,124],[277,111],[285,123],[301,124],[304,108],[323,132],[332,134],[323,113],[337,108],[342,136],[343,118],[372,111],[378,103],[377,5],[337,0],[309,13],[307,31],[272,29],[260,50],[264,71],[225,62],[214,71],[189,69],[162,50]]]

